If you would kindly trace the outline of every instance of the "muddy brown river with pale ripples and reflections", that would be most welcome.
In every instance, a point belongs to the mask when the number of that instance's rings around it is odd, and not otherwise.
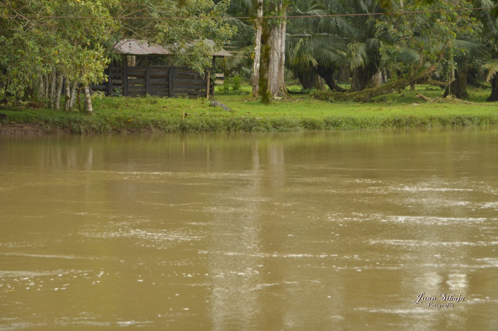
[[[0,330],[497,330],[497,147],[497,127],[2,136]]]

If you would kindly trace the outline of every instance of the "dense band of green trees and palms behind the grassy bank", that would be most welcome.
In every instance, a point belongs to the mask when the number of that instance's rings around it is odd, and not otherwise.
[[[200,71],[211,65],[209,38],[215,49],[226,42],[237,49],[223,68],[252,73],[254,95],[286,97],[291,71],[304,88],[323,79],[335,99],[369,100],[427,82],[465,98],[473,72],[492,84],[489,100],[497,101],[496,7],[496,0],[0,0],[0,92],[55,109],[65,95],[70,110],[82,91],[91,112],[89,87],[107,79],[116,41],[169,45]]]

